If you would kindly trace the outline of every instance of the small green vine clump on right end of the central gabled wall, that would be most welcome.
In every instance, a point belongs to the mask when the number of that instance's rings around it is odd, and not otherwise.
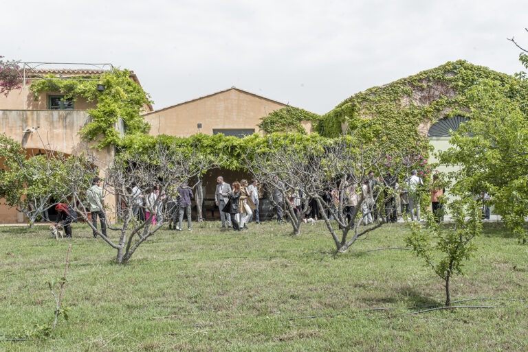
[[[320,115],[310,113],[301,108],[294,106],[287,106],[273,111],[265,117],[261,117],[262,122],[259,128],[266,133],[274,132],[299,132],[306,134],[307,130],[304,128],[302,121],[311,121],[316,124],[320,120]]]

